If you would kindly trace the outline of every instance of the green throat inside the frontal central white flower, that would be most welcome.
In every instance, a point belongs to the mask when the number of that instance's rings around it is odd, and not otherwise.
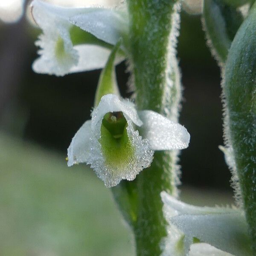
[[[105,163],[117,169],[129,163],[134,156],[134,148],[127,134],[128,123],[122,112],[105,114],[101,126],[102,153]]]

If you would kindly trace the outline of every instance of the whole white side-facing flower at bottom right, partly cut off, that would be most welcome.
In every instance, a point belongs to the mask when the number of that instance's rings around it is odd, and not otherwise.
[[[195,240],[222,250],[220,255],[223,256],[229,253],[236,256],[252,255],[244,212],[240,209],[195,207],[178,201],[166,192],[161,192],[161,197],[163,212],[169,223],[162,256],[219,255],[203,254],[204,251],[213,250],[205,245],[191,247],[189,254],[190,245]],[[195,253],[195,247],[197,250],[201,248],[201,254]]]

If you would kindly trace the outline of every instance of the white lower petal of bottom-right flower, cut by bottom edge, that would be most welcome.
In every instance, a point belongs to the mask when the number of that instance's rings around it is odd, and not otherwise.
[[[210,244],[196,243],[190,247],[189,256],[233,256],[230,253],[226,253],[213,247]]]

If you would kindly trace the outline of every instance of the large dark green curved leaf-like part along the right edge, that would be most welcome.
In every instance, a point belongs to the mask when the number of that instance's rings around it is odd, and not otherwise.
[[[256,254],[256,3],[230,47],[224,73],[225,135],[232,146]]]

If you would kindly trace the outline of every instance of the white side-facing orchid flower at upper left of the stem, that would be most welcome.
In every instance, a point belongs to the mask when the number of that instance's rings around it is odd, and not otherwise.
[[[34,0],[35,22],[43,30],[36,45],[41,55],[32,65],[37,73],[67,73],[105,66],[111,48],[128,33],[125,8],[67,8]],[[116,63],[124,59],[118,55]]]

